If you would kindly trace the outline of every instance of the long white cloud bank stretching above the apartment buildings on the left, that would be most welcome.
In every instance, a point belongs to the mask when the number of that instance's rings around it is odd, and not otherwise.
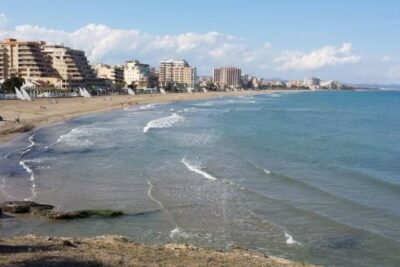
[[[85,50],[92,62],[124,61],[139,58],[157,62],[166,58],[191,57],[203,61],[221,61],[241,57],[246,48],[235,36],[218,32],[179,35],[152,35],[136,29],[114,29],[101,24],[88,24],[75,31],[20,25],[13,30],[0,30],[0,38],[15,37],[22,40],[43,40],[63,43]],[[201,55],[201,57],[200,57]],[[249,55],[246,55],[249,60]]]

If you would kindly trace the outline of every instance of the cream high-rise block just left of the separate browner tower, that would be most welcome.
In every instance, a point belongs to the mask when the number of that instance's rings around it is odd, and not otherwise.
[[[196,68],[189,66],[186,60],[160,61],[160,86],[168,83],[180,83],[187,87],[194,87],[195,80]]]

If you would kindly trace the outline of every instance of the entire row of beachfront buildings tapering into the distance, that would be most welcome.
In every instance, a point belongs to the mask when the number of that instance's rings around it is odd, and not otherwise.
[[[251,75],[242,75],[240,68],[220,67],[213,76],[197,77],[197,70],[186,60],[160,61],[159,69],[138,60],[128,60],[121,65],[90,65],[84,51],[64,45],[45,42],[26,42],[5,39],[0,42],[0,81],[19,76],[27,81],[39,81],[49,87],[67,89],[97,87],[120,89],[179,87],[195,88],[309,88],[341,89],[336,81],[321,81],[318,78],[304,80],[265,80]]]

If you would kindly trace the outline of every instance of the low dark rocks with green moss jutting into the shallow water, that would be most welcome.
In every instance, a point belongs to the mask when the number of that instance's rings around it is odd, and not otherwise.
[[[8,214],[33,214],[46,216],[56,220],[83,219],[93,216],[102,218],[111,218],[124,215],[122,211],[110,209],[97,210],[75,210],[75,211],[53,211],[54,206],[47,204],[38,204],[32,201],[7,201],[0,204],[1,210]]]

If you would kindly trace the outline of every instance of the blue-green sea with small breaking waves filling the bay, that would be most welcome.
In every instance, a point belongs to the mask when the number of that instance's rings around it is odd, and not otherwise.
[[[0,200],[110,220],[2,219],[1,235],[123,234],[326,266],[400,266],[400,92],[147,105],[0,147]]]

